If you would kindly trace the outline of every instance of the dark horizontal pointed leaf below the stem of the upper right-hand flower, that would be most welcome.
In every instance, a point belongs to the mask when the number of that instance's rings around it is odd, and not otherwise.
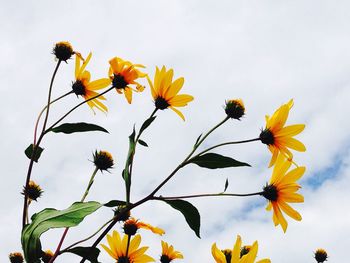
[[[250,166],[247,163],[243,163],[217,153],[206,153],[200,156],[196,156],[193,159],[190,159],[189,163],[195,163],[200,167],[209,169]]]

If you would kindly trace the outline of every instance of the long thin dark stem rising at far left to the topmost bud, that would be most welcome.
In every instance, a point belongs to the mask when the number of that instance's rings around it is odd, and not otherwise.
[[[40,142],[45,134],[44,130],[46,128],[47,120],[49,118],[52,86],[53,86],[53,82],[55,80],[56,73],[58,71],[60,64],[61,64],[61,60],[58,60],[56,68],[55,68],[55,70],[52,74],[52,77],[51,77],[51,82],[50,82],[50,87],[49,87],[49,95],[48,95],[48,99],[47,99],[47,109],[46,109],[46,115],[45,115],[45,119],[44,119],[44,123],[43,123],[43,129],[42,129],[42,132],[40,134],[38,143],[33,145],[33,152],[32,152],[32,156],[30,158],[29,166],[28,166],[25,188],[28,188],[30,176],[32,174],[32,169],[33,169],[33,164],[34,164],[34,157],[36,156],[36,153],[37,153],[38,148],[39,148],[39,144],[40,144]],[[26,225],[27,214],[28,214],[28,195],[25,194],[24,195],[24,202],[23,202],[23,213],[22,213],[22,228],[24,228],[24,226]]]

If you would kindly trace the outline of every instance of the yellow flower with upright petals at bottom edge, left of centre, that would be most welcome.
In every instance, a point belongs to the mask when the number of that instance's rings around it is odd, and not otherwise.
[[[148,263],[155,262],[153,258],[146,255],[145,252],[148,247],[140,247],[141,236],[136,235],[130,240],[128,255],[126,255],[128,236],[124,235],[123,239],[117,231],[113,231],[112,235],[107,235],[107,241],[109,247],[101,244],[104,250],[117,262],[129,262],[129,263]]]

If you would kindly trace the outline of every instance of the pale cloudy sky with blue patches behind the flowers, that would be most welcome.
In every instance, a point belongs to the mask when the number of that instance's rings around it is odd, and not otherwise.
[[[236,236],[244,244],[259,242],[258,258],[272,262],[313,262],[322,247],[328,262],[347,262],[350,245],[350,17],[348,1],[2,1],[0,9],[0,127],[2,163],[0,258],[20,250],[20,225],[34,123],[45,105],[55,60],[54,43],[69,41],[83,56],[91,51],[88,70],[93,78],[107,76],[108,60],[118,56],[146,66],[152,77],[156,66],[173,68],[184,77],[182,92],[194,96],[183,109],[186,121],[165,110],[142,139],[135,156],[132,200],[152,191],[189,153],[199,134],[225,117],[225,100],[241,98],[246,116],[230,120],[211,134],[202,149],[217,143],[256,138],[272,114],[294,99],[288,124],[304,123],[298,136],[307,148],[295,160],[306,166],[300,181],[305,203],[295,204],[303,220],[287,218],[284,234],[274,227],[272,214],[261,197],[191,200],[201,214],[201,239],[181,214],[159,202],[133,211],[141,220],[166,230],[163,237],[141,231],[142,245],[157,258],[160,240],[184,254],[182,262],[214,262],[211,245],[232,248]],[[74,61],[58,72],[53,97],[71,89]],[[67,208],[79,200],[94,167],[95,150],[107,150],[116,161],[111,173],[98,174],[89,200],[107,202],[124,197],[120,176],[127,152],[127,136],[153,111],[146,90],[133,103],[114,91],[107,94],[108,114],[96,115],[83,105],[66,122],[90,122],[109,134],[48,134],[33,170],[43,188],[30,212],[45,207]],[[81,102],[70,96],[54,105],[49,122]],[[182,169],[161,189],[163,196],[221,192],[226,178],[229,192],[260,191],[269,180],[270,153],[259,142],[218,149],[218,153],[248,162],[252,167],[207,170],[195,165]],[[86,237],[107,221],[109,209],[89,216],[69,231],[64,245]],[[115,230],[121,231],[117,225]],[[42,236],[44,249],[54,250],[62,230]],[[103,241],[106,243],[106,241]],[[103,243],[102,242],[102,243]],[[90,243],[87,242],[86,245]],[[4,260],[2,260],[4,261]],[[64,255],[56,262],[77,262]],[[104,251],[101,262],[113,262]],[[5,261],[4,261],[5,262]],[[180,260],[178,262],[181,262]]]

